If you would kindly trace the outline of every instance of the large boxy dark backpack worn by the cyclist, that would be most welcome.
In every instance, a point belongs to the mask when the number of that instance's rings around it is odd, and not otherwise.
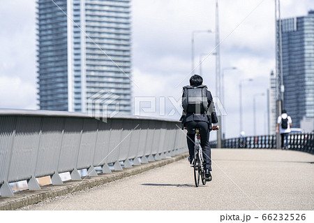
[[[185,86],[182,107],[186,113],[202,114],[207,112],[207,86]]]

